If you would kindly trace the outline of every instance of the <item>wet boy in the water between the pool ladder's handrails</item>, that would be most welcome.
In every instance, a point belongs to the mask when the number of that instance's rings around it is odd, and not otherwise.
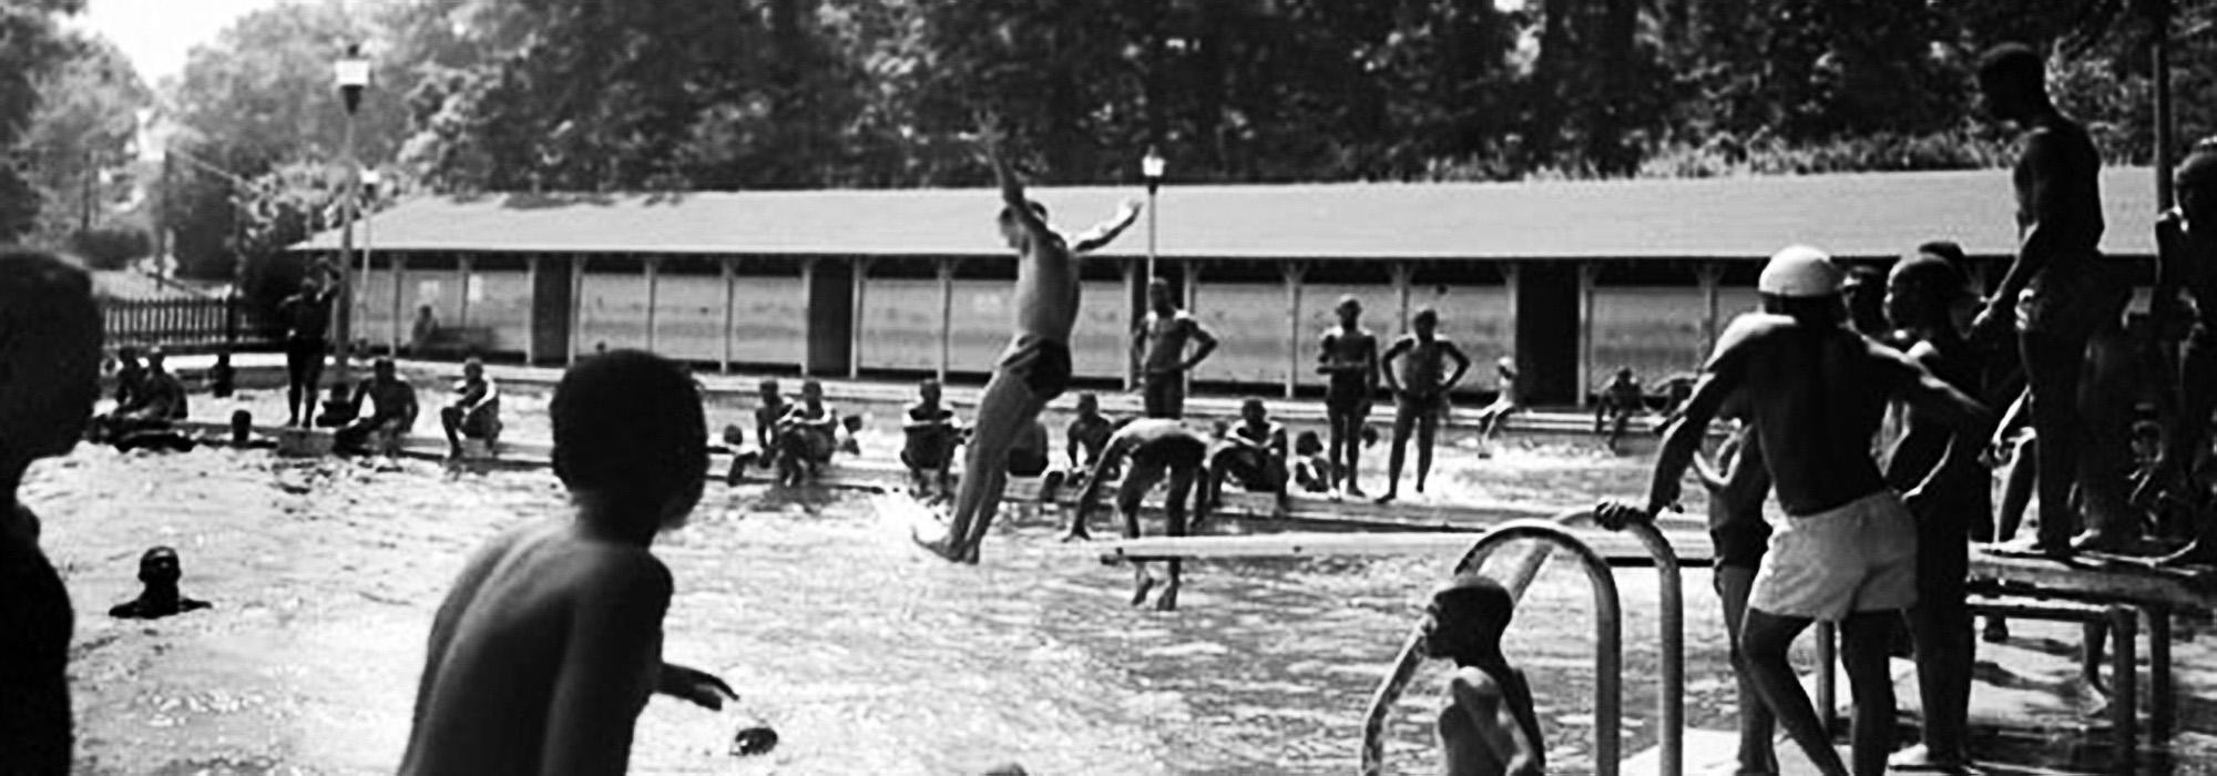
[[[1454,661],[1439,709],[1439,754],[1448,776],[1536,776],[1547,772],[1532,685],[1501,654],[1516,614],[1508,588],[1477,572],[1432,592],[1423,610],[1426,656]]]

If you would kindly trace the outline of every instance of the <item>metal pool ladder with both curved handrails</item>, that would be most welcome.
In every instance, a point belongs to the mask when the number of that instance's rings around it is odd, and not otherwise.
[[[1454,563],[1454,572],[1477,570],[1494,550],[1510,541],[1536,539],[1552,548],[1567,550],[1585,565],[1585,576],[1594,588],[1594,774],[1616,776],[1623,749],[1623,605],[1616,596],[1616,576],[1610,561],[1592,545],[1570,532],[1570,523],[1590,523],[1592,510],[1563,512],[1554,521],[1521,519],[1494,525]],[[1649,521],[1625,525],[1641,537],[1654,559],[1663,581],[1663,692],[1658,714],[1663,718],[1663,760],[1658,776],[1680,776],[1685,769],[1685,596],[1678,579],[1678,554]],[[1532,585],[1547,552],[1523,559],[1501,585],[1514,596]],[[1401,645],[1394,670],[1379,683],[1370,698],[1370,714],[1363,718],[1361,776],[1383,776],[1386,772],[1386,718],[1401,690],[1423,665],[1423,625],[1419,623]]]

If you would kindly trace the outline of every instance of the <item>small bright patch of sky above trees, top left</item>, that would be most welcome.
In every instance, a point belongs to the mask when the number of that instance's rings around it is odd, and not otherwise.
[[[213,42],[224,27],[248,11],[279,0],[86,0],[84,13],[67,24],[91,29],[124,49],[149,86],[184,71],[184,55]]]

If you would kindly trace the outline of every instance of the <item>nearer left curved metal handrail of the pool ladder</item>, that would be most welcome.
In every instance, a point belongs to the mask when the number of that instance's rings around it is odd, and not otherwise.
[[[1565,517],[1574,519],[1576,514],[1579,512]],[[1508,521],[1488,530],[1470,545],[1468,552],[1463,552],[1463,559],[1454,563],[1454,572],[1461,574],[1474,570],[1479,561],[1492,554],[1492,550],[1516,539],[1539,539],[1570,550],[1583,561],[1585,576],[1594,585],[1594,774],[1616,776],[1623,736],[1623,610],[1616,596],[1616,576],[1610,572],[1610,561],[1594,552],[1594,548],[1585,541],[1579,541],[1579,537],[1554,521],[1539,519]],[[1394,670],[1370,698],[1370,714],[1363,721],[1363,776],[1383,774],[1386,716],[1392,709],[1392,701],[1401,696],[1401,687],[1406,687],[1410,676],[1417,674],[1417,667],[1423,665],[1421,647],[1423,625],[1419,623],[1401,645],[1401,656],[1394,663]]]

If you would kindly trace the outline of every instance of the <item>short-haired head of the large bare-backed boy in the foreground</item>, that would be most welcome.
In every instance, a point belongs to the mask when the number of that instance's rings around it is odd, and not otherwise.
[[[614,350],[563,372],[548,404],[554,474],[588,512],[632,519],[610,525],[652,537],[678,528],[701,501],[707,419],[701,388],[674,361]]]

